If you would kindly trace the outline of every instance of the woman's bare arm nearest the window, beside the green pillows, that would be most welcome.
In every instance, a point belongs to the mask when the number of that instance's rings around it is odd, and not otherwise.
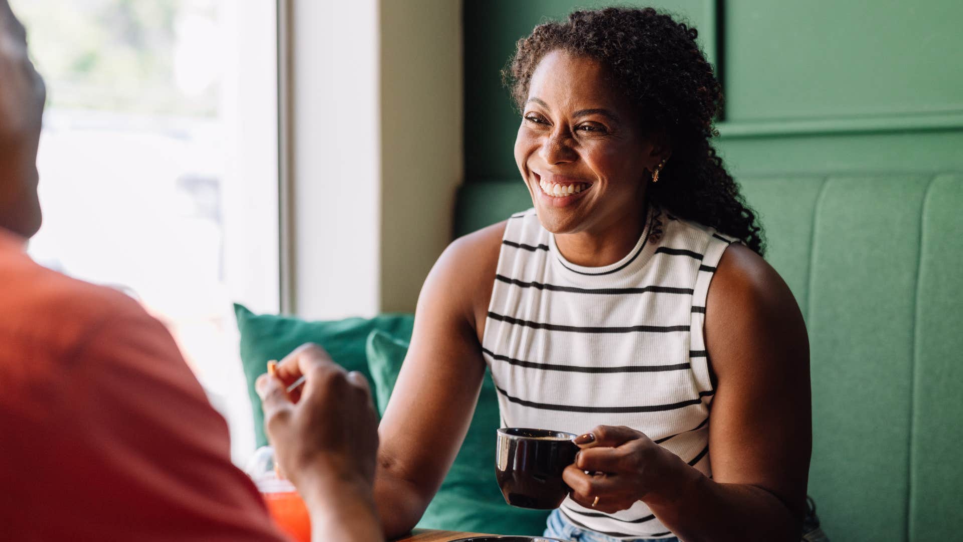
[[[375,501],[389,538],[421,519],[468,431],[484,376],[479,330],[504,230],[456,240],[422,288],[411,346],[378,428]]]

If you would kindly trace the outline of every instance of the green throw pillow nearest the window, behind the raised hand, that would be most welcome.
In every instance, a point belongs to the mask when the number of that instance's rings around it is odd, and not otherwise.
[[[308,322],[293,316],[254,314],[238,304],[234,305],[234,312],[241,331],[241,363],[247,378],[258,447],[268,444],[268,439],[264,434],[264,413],[261,399],[254,392],[254,381],[267,370],[270,360],[280,361],[301,344],[315,342],[324,347],[339,365],[360,371],[371,380],[365,359],[365,339],[375,330],[409,338],[414,321],[411,314],[380,314],[374,318]]]

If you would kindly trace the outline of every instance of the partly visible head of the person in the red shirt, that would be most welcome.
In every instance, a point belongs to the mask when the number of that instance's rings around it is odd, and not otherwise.
[[[27,33],[0,0],[0,229],[40,229],[37,148],[46,92],[27,56]]]

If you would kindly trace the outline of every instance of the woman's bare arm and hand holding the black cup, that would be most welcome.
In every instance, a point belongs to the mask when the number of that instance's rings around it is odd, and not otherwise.
[[[789,287],[755,253],[726,250],[706,303],[715,369],[709,423],[713,479],[629,428],[600,427],[573,497],[597,508],[642,500],[687,542],[797,541],[812,445],[809,342]],[[587,439],[585,439],[587,440]],[[586,471],[615,473],[586,475]]]

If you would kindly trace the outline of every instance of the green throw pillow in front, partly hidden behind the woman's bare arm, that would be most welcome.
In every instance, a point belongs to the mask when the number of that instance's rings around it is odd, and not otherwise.
[[[368,336],[368,367],[379,415],[384,414],[398,380],[408,351],[407,338],[377,330]],[[418,527],[536,536],[545,530],[548,511],[509,506],[495,481],[495,429],[500,423],[495,384],[485,370],[468,434]]]

